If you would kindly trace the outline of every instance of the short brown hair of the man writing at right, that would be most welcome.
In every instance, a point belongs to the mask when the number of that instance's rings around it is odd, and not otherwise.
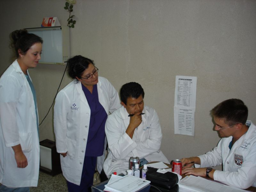
[[[246,123],[248,108],[240,99],[228,99],[216,105],[210,113],[214,117],[223,118],[225,123],[231,126],[236,123]]]

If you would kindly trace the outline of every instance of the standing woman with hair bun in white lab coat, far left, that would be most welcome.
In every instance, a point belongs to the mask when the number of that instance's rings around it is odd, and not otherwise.
[[[0,191],[29,191],[39,173],[36,92],[28,74],[41,59],[43,40],[26,29],[11,34],[17,59],[0,78]]]

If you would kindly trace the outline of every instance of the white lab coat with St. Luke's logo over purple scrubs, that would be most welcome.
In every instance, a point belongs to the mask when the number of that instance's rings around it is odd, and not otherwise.
[[[99,77],[97,89],[100,104],[107,114],[121,106],[118,93],[106,78]],[[80,81],[70,82],[58,93],[54,105],[56,147],[58,153],[68,151],[66,157],[60,155],[61,169],[66,180],[76,185],[80,185],[81,181],[90,112]],[[102,170],[104,159],[105,150],[103,155],[97,158],[99,172]]]

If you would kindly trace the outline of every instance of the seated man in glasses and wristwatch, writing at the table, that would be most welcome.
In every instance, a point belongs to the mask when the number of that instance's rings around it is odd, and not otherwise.
[[[256,127],[246,121],[248,109],[239,99],[222,101],[211,110],[215,131],[222,138],[212,151],[181,159],[182,173],[210,177],[237,188],[256,186]],[[195,163],[196,168],[191,168]],[[208,166],[223,164],[223,171]],[[203,167],[203,168],[197,168]]]

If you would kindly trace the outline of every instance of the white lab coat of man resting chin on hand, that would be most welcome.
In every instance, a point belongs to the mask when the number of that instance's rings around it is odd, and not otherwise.
[[[160,150],[162,131],[156,110],[144,106],[141,124],[135,129],[132,139],[125,132],[130,117],[122,106],[108,116],[105,132],[108,139],[108,156],[103,169],[109,177],[112,172],[127,174],[132,156],[145,158],[148,162],[170,163]]]

